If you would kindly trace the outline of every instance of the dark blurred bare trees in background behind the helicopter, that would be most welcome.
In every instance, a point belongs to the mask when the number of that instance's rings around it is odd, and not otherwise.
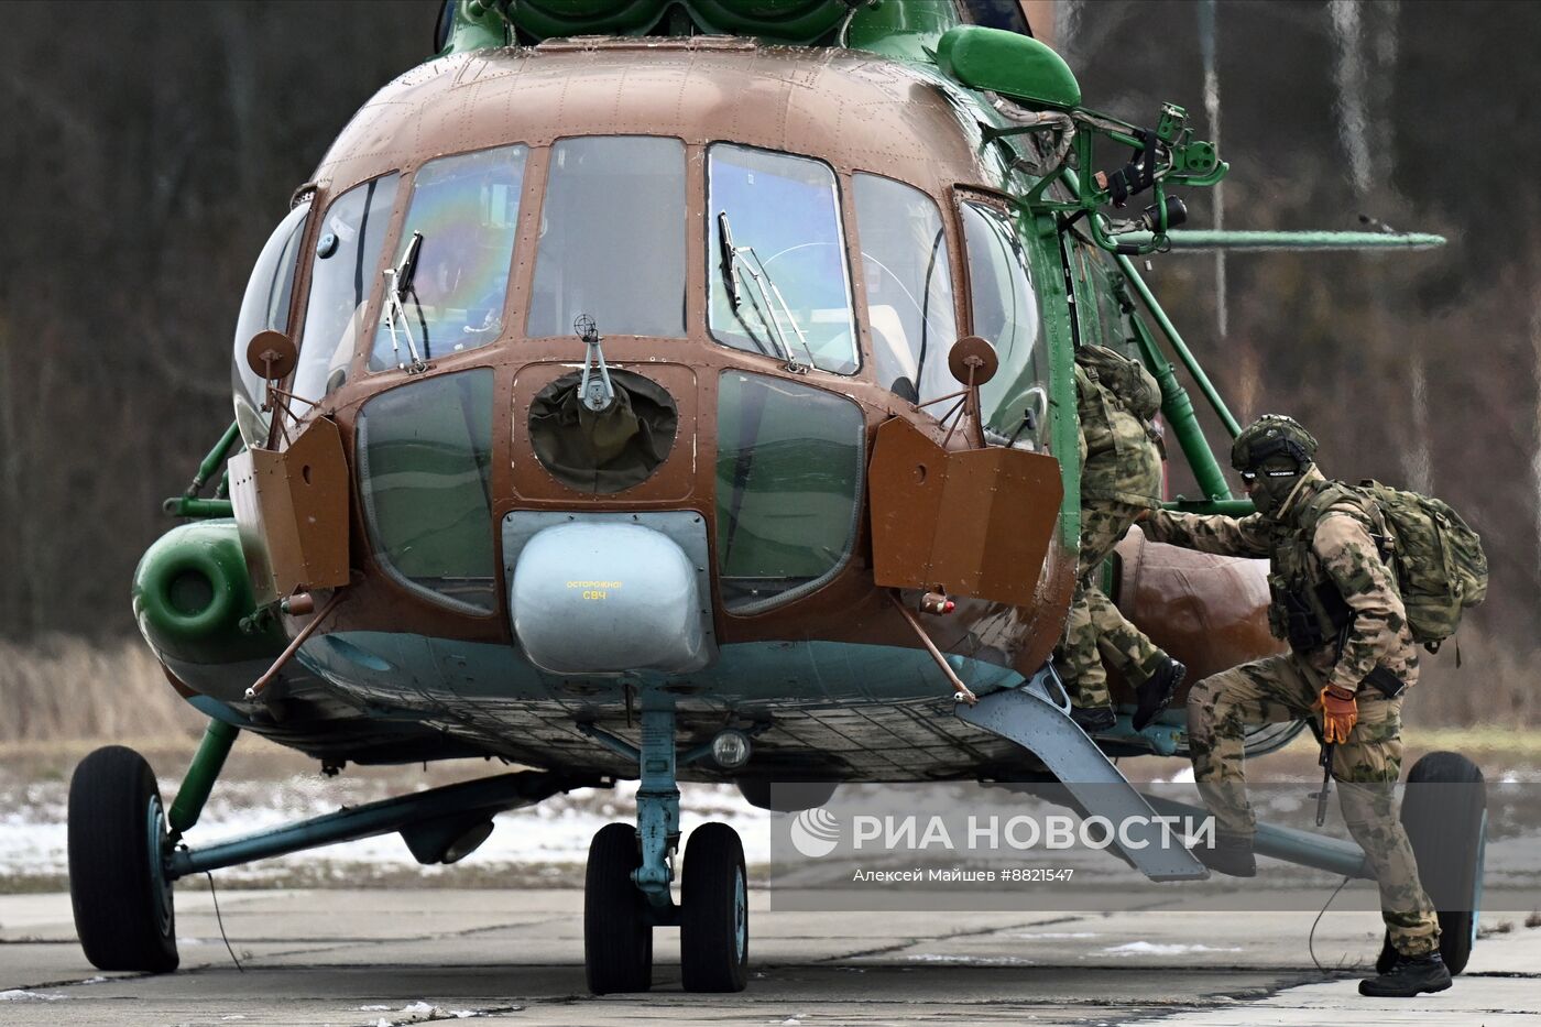
[[[1462,643],[1469,662],[1486,654],[1484,683],[1516,680],[1510,708],[1486,712],[1541,719],[1526,699],[1541,614],[1541,142],[1527,117],[1541,6],[1222,2],[1208,62],[1199,3],[1060,12],[1093,106],[1148,122],[1171,99],[1199,134],[1224,111],[1227,227],[1367,214],[1450,236],[1435,253],[1231,256],[1224,335],[1213,259],[1167,256],[1153,278],[1239,418],[1294,413],[1328,473],[1429,486],[1470,515],[1493,586]],[[0,637],[131,631],[128,583],[165,530],[160,500],[231,416],[251,261],[353,111],[427,56],[435,14],[415,0],[5,11]],[[1213,222],[1213,196],[1187,199],[1194,225]]]

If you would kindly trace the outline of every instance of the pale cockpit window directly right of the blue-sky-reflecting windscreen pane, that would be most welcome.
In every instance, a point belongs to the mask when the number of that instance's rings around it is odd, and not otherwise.
[[[877,382],[911,402],[957,392],[948,370],[959,330],[942,211],[920,190],[875,174],[852,176],[852,191]]]

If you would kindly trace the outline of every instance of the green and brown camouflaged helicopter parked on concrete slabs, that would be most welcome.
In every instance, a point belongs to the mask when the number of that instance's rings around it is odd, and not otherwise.
[[[680,782],[798,810],[841,782],[1056,780],[1089,813],[1151,810],[1111,759],[1185,756],[1180,716],[1134,731],[1125,689],[1088,736],[1051,662],[1074,352],[1160,382],[1202,493],[1176,509],[1248,512],[1177,367],[1237,424],[1134,259],[1302,239],[1185,236],[1177,190],[1228,165],[1177,105],[1151,125],[1083,106],[1023,9],[444,5],[435,56],[365,103],[257,254],[234,421],[136,572],[137,625],[208,726],[170,805],[128,748],[76,771],[94,965],[174,970],[190,874],[387,833],[453,864],[495,814],[635,779],[635,823],[589,853],[589,987],[647,990],[678,927],[684,988],[737,992],[743,845],[684,837]],[[1279,651],[1253,561],[1131,532],[1103,574],[1190,680]],[[328,774],[524,769],[194,847],[242,732]],[[1322,836],[1264,827],[1257,851],[1368,876]],[[1123,854],[1207,876],[1187,850]],[[1452,970],[1479,887],[1441,913],[1465,918]]]

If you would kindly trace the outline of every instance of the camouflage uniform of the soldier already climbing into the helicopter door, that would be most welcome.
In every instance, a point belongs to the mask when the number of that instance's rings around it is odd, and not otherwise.
[[[1080,558],[1057,663],[1071,702],[1089,709],[1113,705],[1103,658],[1131,685],[1148,680],[1165,660],[1096,583],[1102,561],[1140,510],[1160,503],[1162,458],[1140,419],[1099,384],[1096,370],[1076,365],[1076,396],[1082,444]]]

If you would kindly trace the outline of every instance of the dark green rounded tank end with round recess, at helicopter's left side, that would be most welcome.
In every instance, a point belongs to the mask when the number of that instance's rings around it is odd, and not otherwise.
[[[276,658],[288,638],[273,618],[253,629],[247,618],[254,612],[234,520],[171,529],[134,571],[134,620],[162,660],[208,666]]]

